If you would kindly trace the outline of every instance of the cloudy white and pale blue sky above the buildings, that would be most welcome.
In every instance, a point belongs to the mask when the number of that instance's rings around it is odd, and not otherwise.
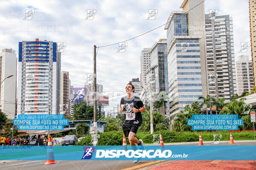
[[[46,3],[47,2],[47,3]],[[35,38],[65,42],[61,53],[61,71],[68,71],[71,85],[83,87],[87,74],[93,73],[93,45],[104,46],[128,40],[166,23],[172,11],[181,11],[182,0],[95,0],[95,1],[2,1],[0,6],[0,48],[12,48],[18,54],[18,42]],[[240,42],[250,42],[249,4],[247,0],[206,0],[205,14],[217,9],[218,15],[233,17],[235,58]],[[25,18],[25,9],[34,9]],[[148,10],[157,9],[154,20],[147,20]],[[87,17],[87,11],[94,17]],[[26,20],[24,20],[24,18]],[[97,48],[97,83],[106,94],[125,93],[125,85],[140,77],[140,55],[143,48],[166,38],[164,26],[128,41],[125,52],[119,44]],[[18,56],[18,55],[17,55]],[[113,110],[120,97],[110,98]]]

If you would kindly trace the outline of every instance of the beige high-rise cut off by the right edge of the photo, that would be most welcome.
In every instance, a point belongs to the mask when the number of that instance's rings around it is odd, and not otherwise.
[[[252,52],[252,65],[253,65],[253,82],[256,86],[256,1],[249,0],[249,17],[250,17],[250,46]]]

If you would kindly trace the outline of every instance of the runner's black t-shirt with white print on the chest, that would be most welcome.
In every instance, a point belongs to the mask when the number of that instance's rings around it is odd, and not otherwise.
[[[125,105],[124,112],[125,113],[134,113],[132,108],[140,109],[144,106],[143,102],[141,101],[140,97],[133,96],[132,98],[128,99],[127,96],[123,97],[120,102],[120,106]],[[131,126],[137,125],[140,126],[142,124],[142,115],[140,112],[135,113],[134,120],[126,120],[127,114],[125,114],[125,121],[123,125]]]

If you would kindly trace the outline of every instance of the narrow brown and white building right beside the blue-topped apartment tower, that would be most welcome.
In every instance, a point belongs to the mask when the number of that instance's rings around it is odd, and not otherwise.
[[[68,71],[61,71],[61,101],[60,114],[69,116],[69,75]]]

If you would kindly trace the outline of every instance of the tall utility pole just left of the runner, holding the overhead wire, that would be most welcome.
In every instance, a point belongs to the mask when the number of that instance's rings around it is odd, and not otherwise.
[[[97,96],[96,96],[96,45],[93,46],[93,145],[98,144],[97,130]]]

